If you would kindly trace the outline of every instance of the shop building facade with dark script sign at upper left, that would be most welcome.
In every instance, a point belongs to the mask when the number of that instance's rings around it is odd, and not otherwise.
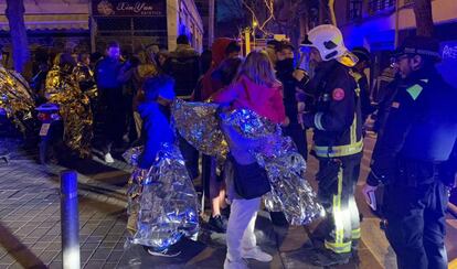
[[[34,46],[100,51],[113,40],[127,50],[158,44],[174,50],[188,34],[202,50],[203,23],[193,0],[24,0],[29,43]],[[0,10],[6,10],[0,1]],[[9,23],[0,12],[0,43],[9,44]]]

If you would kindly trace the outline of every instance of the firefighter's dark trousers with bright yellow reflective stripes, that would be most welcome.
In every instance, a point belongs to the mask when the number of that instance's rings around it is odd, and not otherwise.
[[[313,234],[323,247],[336,254],[349,254],[352,241],[360,239],[360,216],[354,191],[360,174],[361,154],[338,159],[320,159],[318,197],[327,212],[326,219]]]

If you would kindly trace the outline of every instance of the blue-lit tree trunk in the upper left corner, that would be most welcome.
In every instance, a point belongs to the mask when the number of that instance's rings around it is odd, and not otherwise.
[[[14,69],[17,72],[22,72],[30,57],[24,22],[25,8],[23,0],[7,0],[6,13],[10,25]]]

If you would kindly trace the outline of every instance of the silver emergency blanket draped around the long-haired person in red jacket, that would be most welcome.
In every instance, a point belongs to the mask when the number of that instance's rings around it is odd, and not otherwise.
[[[220,149],[221,143],[227,144],[226,141],[222,142],[220,139],[210,138],[216,131],[217,136],[219,132],[224,132],[225,126],[232,127],[246,139],[261,140],[261,142],[253,143],[257,146],[249,151],[258,164],[266,169],[272,184],[272,192],[264,196],[266,208],[273,212],[284,212],[291,225],[306,225],[322,217],[325,209],[318,203],[316,192],[305,179],[306,162],[298,153],[291,139],[283,137],[280,127],[245,109],[222,112],[217,116],[210,112],[193,112],[205,109],[219,112],[214,106],[214,104],[204,103],[181,103],[179,108],[173,110],[173,116],[181,116],[176,117],[176,126],[179,132],[189,133],[191,139],[188,139],[189,136],[183,137],[190,143],[199,141],[199,138],[204,137],[204,140],[192,144],[205,154],[222,154],[222,152],[210,152],[205,151],[205,149]],[[191,123],[209,120],[200,117],[217,117],[220,118],[220,125],[217,128],[214,126],[202,128],[200,123]],[[179,122],[179,120],[185,122]],[[198,129],[198,131],[192,130],[193,128]],[[193,133],[198,133],[199,137],[193,137]],[[203,143],[205,143],[204,147],[200,147]]]

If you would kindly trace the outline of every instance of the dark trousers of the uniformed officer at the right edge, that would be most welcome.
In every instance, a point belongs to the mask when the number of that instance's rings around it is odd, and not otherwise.
[[[385,186],[386,236],[400,269],[447,268],[447,202],[446,186],[438,180],[416,186]]]

